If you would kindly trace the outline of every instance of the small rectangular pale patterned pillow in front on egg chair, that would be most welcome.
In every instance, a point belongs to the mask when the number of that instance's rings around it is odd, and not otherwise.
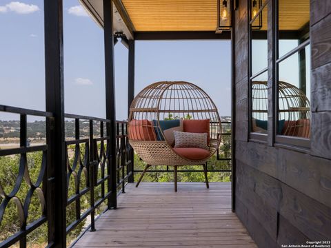
[[[174,131],[174,148],[197,147],[208,149],[207,138],[207,133],[198,134]]]

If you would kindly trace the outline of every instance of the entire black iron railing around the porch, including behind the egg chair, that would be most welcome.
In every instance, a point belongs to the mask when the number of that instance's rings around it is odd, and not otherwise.
[[[59,228],[55,225],[54,220],[54,211],[58,203],[58,199],[54,197],[54,192],[57,190],[54,185],[54,180],[56,180],[54,172],[59,169],[59,165],[54,164],[52,161],[54,158],[50,156],[49,152],[50,139],[54,137],[52,133],[54,116],[50,112],[5,105],[0,105],[0,112],[20,116],[19,147],[0,149],[0,169],[2,167],[0,173],[3,173],[0,175],[0,247],[10,247],[11,245],[26,247],[33,242],[29,235],[33,231],[41,229],[41,226],[43,229],[40,232],[48,236],[44,245],[52,247],[54,245],[52,234]],[[30,124],[27,116],[46,119],[46,139],[43,140],[45,144],[30,144],[28,139]],[[109,204],[109,201],[112,200],[111,195],[114,193],[112,190],[113,173],[116,173],[115,194],[118,195],[125,192],[126,183],[133,182],[134,173],[141,171],[134,170],[134,156],[137,155],[134,155],[132,147],[128,143],[126,121],[114,123],[116,128],[114,156],[116,159],[112,159],[111,137],[105,135],[107,134],[106,126],[112,125],[110,120],[75,114],[65,114],[65,118],[65,140],[63,142],[66,149],[65,214],[68,245],[79,234],[82,235],[81,231],[88,229],[96,231],[95,220],[103,211],[110,209],[109,206],[112,204]],[[215,157],[217,161],[228,162],[228,167],[209,169],[208,172],[231,172],[231,123],[224,121],[222,126],[224,139]],[[34,161],[30,158],[30,154],[33,153],[38,155]],[[12,161],[16,164],[9,165]],[[112,161],[115,161],[114,165],[112,165]],[[30,163],[34,163],[34,165],[32,166]],[[4,167],[12,168],[13,172],[7,175],[7,172],[3,170]],[[30,172],[33,172],[33,175]],[[172,169],[165,167],[163,170],[151,170],[150,172],[172,172]],[[180,172],[203,171],[181,169]],[[39,203],[37,203],[38,201]],[[39,214],[36,214],[36,205],[39,206]],[[114,208],[116,208],[116,204],[114,204]],[[9,210],[16,212],[10,213],[10,218],[7,218],[6,211]],[[6,229],[5,225],[10,228]]]

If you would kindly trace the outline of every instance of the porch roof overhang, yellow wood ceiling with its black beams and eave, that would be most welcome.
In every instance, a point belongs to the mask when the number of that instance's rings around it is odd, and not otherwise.
[[[80,0],[103,27],[103,1]],[[114,33],[136,40],[230,39],[217,30],[216,0],[113,0]]]

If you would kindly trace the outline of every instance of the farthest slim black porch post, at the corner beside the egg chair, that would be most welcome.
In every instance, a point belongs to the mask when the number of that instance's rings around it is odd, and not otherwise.
[[[128,66],[128,118],[130,114],[130,105],[134,99],[134,40],[129,40],[129,66]],[[134,151],[130,149],[131,165],[130,171],[131,176],[128,177],[128,183],[134,182]]]

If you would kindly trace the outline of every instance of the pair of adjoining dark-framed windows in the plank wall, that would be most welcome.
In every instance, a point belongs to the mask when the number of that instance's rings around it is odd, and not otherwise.
[[[272,121],[276,143],[309,147],[310,0],[248,3],[250,138],[266,141]]]

